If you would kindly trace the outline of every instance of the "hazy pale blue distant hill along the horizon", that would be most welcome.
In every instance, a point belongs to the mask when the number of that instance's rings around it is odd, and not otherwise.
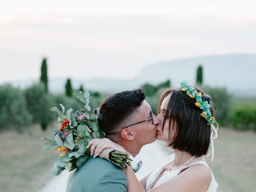
[[[113,93],[138,88],[145,82],[157,84],[170,79],[172,84],[178,87],[182,80],[195,84],[196,68],[199,64],[203,66],[205,85],[225,86],[237,96],[256,96],[256,54],[229,54],[161,61],[146,66],[131,80],[72,79],[72,85],[78,88],[83,84],[91,90]],[[32,81],[12,82],[12,84],[24,87]],[[64,92],[65,83],[66,78],[50,78],[50,92]]]

